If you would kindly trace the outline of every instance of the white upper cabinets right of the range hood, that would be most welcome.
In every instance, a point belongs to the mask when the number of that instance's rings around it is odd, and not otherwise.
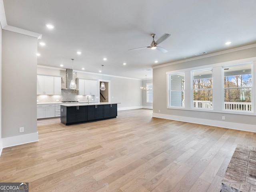
[[[77,79],[78,95],[98,95],[98,81]]]

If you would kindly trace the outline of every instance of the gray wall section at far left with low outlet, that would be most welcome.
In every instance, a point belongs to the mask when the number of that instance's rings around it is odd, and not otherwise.
[[[2,47],[2,138],[37,133],[37,38],[3,30]]]

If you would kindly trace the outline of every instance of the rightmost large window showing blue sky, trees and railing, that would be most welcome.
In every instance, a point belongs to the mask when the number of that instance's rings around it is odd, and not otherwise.
[[[252,64],[224,66],[224,109],[252,111]]]

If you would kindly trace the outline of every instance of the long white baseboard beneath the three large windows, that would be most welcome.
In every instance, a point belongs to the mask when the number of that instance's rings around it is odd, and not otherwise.
[[[236,129],[241,131],[256,132],[256,125],[232,123],[227,121],[215,121],[215,120],[209,120],[209,119],[199,119],[199,118],[193,118],[193,117],[182,117],[182,116],[176,116],[176,115],[166,115],[166,114],[160,114],[160,113],[153,113],[152,117],[170,119],[175,121],[184,121],[188,123],[198,123],[202,125],[223,127],[223,128]]]

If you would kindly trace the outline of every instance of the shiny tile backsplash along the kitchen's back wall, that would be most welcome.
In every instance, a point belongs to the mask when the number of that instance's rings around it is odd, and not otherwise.
[[[62,101],[87,101],[87,96],[90,102],[98,102],[95,95],[76,95],[76,90],[61,90],[61,95],[37,95],[37,103],[56,103]]]

